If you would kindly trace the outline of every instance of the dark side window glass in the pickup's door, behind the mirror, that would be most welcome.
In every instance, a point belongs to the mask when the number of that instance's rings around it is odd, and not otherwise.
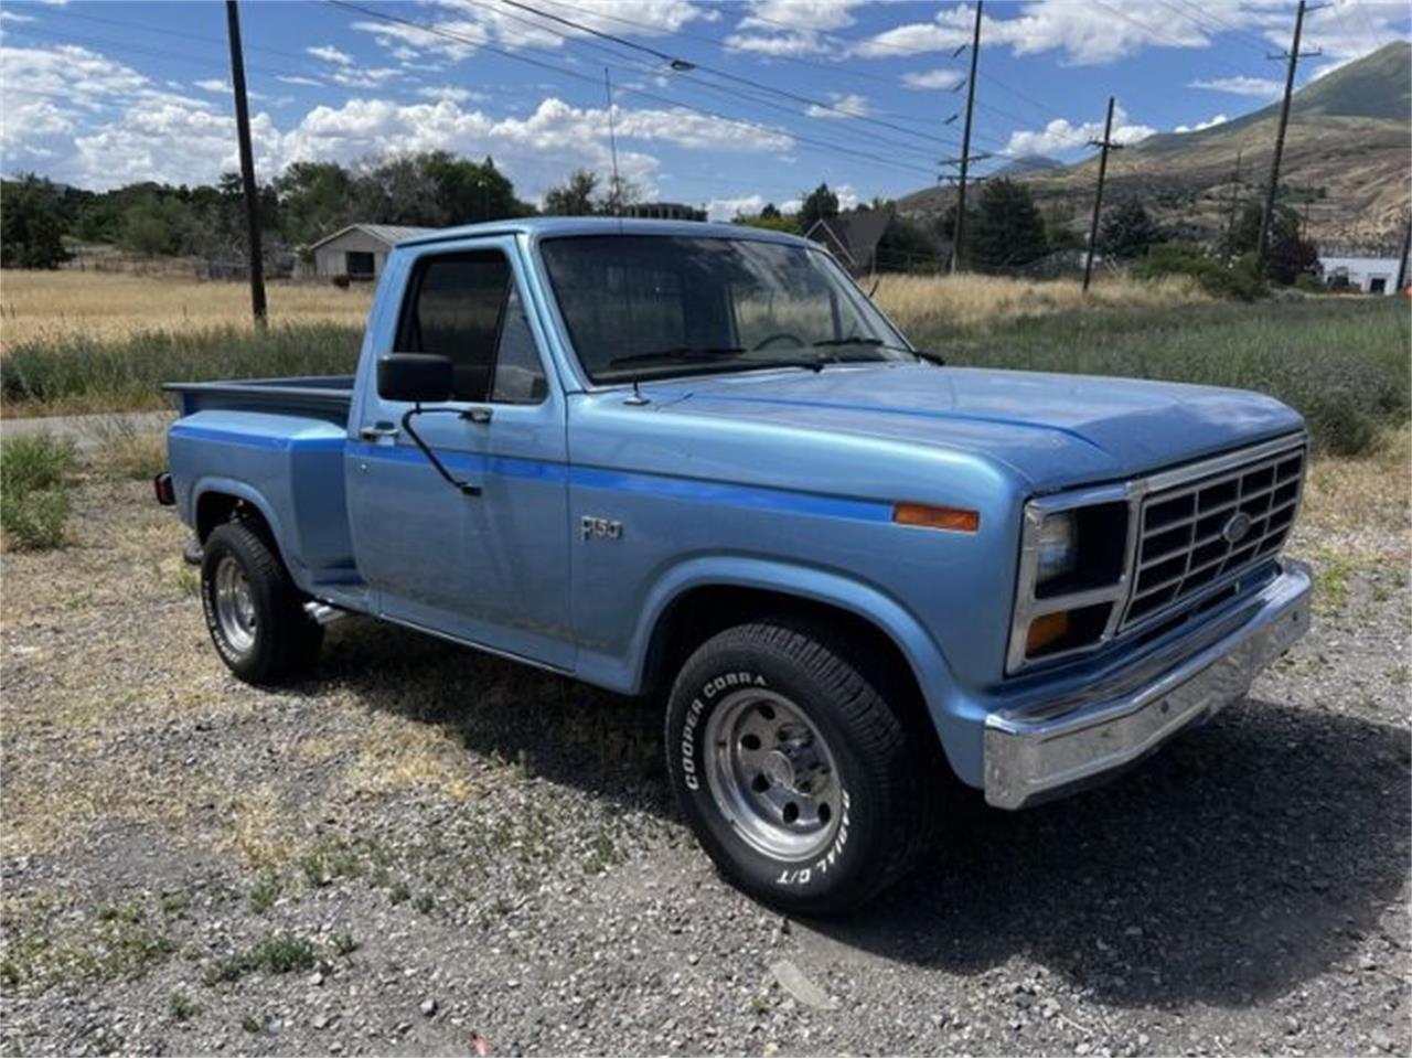
[[[450,357],[457,401],[538,404],[545,397],[539,350],[510,261],[498,251],[425,260],[397,347]]]

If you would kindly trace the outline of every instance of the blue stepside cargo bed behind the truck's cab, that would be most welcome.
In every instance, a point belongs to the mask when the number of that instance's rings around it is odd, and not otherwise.
[[[295,583],[356,604],[345,491],[353,376],[169,383],[181,419],[168,448],[176,507],[205,528],[229,517],[229,497],[257,508]]]

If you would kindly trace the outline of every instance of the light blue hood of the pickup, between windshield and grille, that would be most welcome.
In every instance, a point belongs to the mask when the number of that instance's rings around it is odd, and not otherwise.
[[[928,364],[693,378],[650,393],[665,412],[962,449],[1036,491],[1131,477],[1303,424],[1244,390]]]

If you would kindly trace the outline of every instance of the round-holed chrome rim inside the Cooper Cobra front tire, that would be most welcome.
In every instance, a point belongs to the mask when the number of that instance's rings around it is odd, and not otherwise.
[[[829,847],[843,788],[829,744],[798,705],[743,688],[712,712],[705,734],[712,798],[741,839],[782,860]]]

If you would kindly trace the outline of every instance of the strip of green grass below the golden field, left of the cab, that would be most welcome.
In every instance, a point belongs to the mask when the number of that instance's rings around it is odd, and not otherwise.
[[[20,342],[0,361],[0,398],[8,415],[161,408],[162,383],[346,374],[361,342],[359,328],[335,323]]]

